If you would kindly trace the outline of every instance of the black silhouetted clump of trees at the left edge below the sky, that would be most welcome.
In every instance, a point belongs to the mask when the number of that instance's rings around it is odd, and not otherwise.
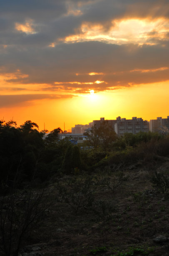
[[[0,121],[0,193],[22,188],[25,182],[44,182],[60,168],[65,154],[60,144],[45,144],[43,133],[34,129],[38,128],[36,123],[27,120],[19,128],[15,125],[13,120]],[[55,129],[52,136],[55,138],[59,131]]]

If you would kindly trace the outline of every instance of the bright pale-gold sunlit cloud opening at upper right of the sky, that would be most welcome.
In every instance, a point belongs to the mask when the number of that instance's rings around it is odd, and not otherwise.
[[[137,28],[137,29],[136,29]],[[107,41],[109,44],[126,44],[138,43],[154,45],[156,42],[149,40],[153,38],[166,39],[169,31],[169,20],[158,18],[156,20],[130,18],[124,20],[112,20],[112,27],[109,31],[104,31],[102,25],[92,25],[91,23],[83,23],[81,26],[82,33],[72,34],[60,41],[65,43],[75,43],[83,41]],[[94,72],[89,73],[93,75]]]

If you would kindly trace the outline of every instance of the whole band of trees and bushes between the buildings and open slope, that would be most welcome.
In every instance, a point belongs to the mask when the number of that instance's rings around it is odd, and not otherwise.
[[[13,187],[22,188],[32,181],[46,182],[53,174],[93,172],[105,166],[114,168],[116,164],[149,162],[158,156],[169,156],[169,137],[140,132],[117,138],[107,121],[87,133],[89,148],[73,146],[68,140],[59,141],[61,128],[45,138],[44,133],[31,120],[19,128],[13,120],[0,120],[0,193],[8,193]]]

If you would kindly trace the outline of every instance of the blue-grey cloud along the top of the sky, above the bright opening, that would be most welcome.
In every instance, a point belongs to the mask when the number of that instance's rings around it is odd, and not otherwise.
[[[68,14],[70,7],[72,11],[81,10],[82,15]],[[167,0],[6,0],[1,3],[0,16],[0,30],[4,31],[0,43],[40,48],[78,31],[82,33],[84,22],[102,24],[106,31],[114,19],[169,18],[169,3]],[[32,20],[37,34],[26,35],[15,30],[15,23],[24,24],[27,20]]]

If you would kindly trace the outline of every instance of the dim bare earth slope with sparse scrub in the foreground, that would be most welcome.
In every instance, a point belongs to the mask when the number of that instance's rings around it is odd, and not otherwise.
[[[22,247],[40,244],[44,256],[169,255],[168,240],[153,241],[159,235],[169,237],[169,197],[167,191],[164,194],[153,187],[155,172],[168,176],[169,159],[148,166],[114,166],[108,173],[95,170],[51,181],[52,204]],[[92,179],[89,191],[93,201],[89,205],[89,195],[80,190],[84,195],[78,208],[75,187],[78,182],[84,184],[87,176]],[[66,192],[62,194],[58,184]]]

